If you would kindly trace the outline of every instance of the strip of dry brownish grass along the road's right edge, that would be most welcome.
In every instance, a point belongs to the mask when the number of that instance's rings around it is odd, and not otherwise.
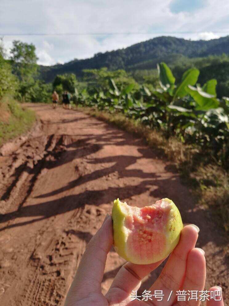
[[[175,163],[183,182],[192,188],[199,199],[197,205],[212,209],[220,226],[229,231],[229,180],[228,173],[216,163],[208,163],[207,155],[195,145],[186,145],[176,137],[166,139],[162,132],[152,130],[124,114],[110,114],[96,108],[79,107],[79,110],[102,121],[109,122],[145,139],[159,151],[160,156]]]

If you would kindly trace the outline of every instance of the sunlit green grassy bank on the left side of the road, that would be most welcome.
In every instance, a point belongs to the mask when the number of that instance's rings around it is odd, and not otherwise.
[[[11,97],[0,100],[0,145],[25,133],[36,120],[32,110],[24,109]]]

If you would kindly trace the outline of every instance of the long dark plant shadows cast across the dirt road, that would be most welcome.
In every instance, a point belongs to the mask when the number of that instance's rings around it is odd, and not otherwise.
[[[72,120],[72,122],[74,122],[74,120]],[[55,137],[57,139],[54,149],[49,151],[50,143],[52,143]],[[102,150],[104,146],[107,145],[117,146],[120,148],[122,146],[130,146],[130,155],[120,154],[118,156],[93,158],[94,153]],[[139,156],[131,155],[132,146],[138,147],[137,150]],[[60,151],[60,147],[64,147],[64,150]],[[92,157],[90,156],[90,159],[86,159],[88,165],[93,166],[106,163],[112,163],[112,165],[80,175],[77,179],[68,182],[66,186],[57,188],[49,193],[41,194],[37,196],[37,198],[43,199],[49,196],[56,196],[72,189],[73,194],[71,195],[62,196],[58,199],[41,202],[36,205],[21,205],[18,211],[2,215],[0,217],[1,223],[21,217],[35,218],[26,222],[6,225],[0,229],[0,231],[37,222],[58,214],[63,214],[77,209],[78,207],[84,207],[86,204],[98,206],[113,201],[115,197],[119,197],[120,199],[130,199],[133,196],[149,192],[150,196],[154,199],[163,197],[171,198],[178,206],[184,223],[195,223],[200,227],[200,229],[203,229],[204,234],[200,235],[198,246],[204,246],[207,242],[212,241],[213,238],[211,232],[215,225],[209,224],[209,220],[206,219],[205,210],[197,209],[195,207],[195,199],[187,191],[187,188],[182,186],[179,176],[175,171],[173,171],[175,170],[174,168],[170,169],[173,173],[170,172],[167,177],[162,176],[160,173],[145,172],[141,169],[130,168],[131,165],[135,165],[141,159],[149,159],[149,163],[152,163],[153,159],[158,157],[158,151],[145,147],[141,139],[135,138],[123,131],[118,131],[118,133],[114,134],[114,129],[107,126],[106,133],[100,135],[89,134],[87,137],[80,138],[77,135],[61,135],[58,137],[50,135],[45,151],[47,152],[46,156],[39,161],[34,168],[25,166],[24,168],[22,167],[22,169],[17,168],[15,170],[15,181],[2,196],[3,200],[10,194],[10,191],[17,183],[17,178],[22,171],[34,174],[34,177],[36,178],[38,173],[40,173],[44,168],[51,169],[54,167],[60,167],[61,165],[72,162],[74,159],[82,157],[87,158],[89,155],[92,155]],[[46,158],[50,156],[53,157],[53,159]],[[156,160],[154,160],[154,163],[156,163]],[[126,182],[128,182],[128,178],[138,178],[141,179],[141,181],[134,186],[127,183],[127,185],[122,187],[106,187],[105,184],[101,186],[101,190],[86,190],[74,194],[74,188],[104,176],[109,176],[114,172],[117,173],[118,178],[123,179],[124,181],[127,179]],[[30,189],[32,189],[33,184],[34,180],[32,179]],[[152,187],[154,187],[153,190]],[[151,199],[149,198],[149,203],[146,204],[149,205],[150,201]],[[211,231],[208,231],[209,226],[211,227]],[[216,239],[214,242],[216,245],[225,243],[223,239]]]

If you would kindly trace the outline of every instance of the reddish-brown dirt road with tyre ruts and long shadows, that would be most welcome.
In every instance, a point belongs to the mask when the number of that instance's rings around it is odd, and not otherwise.
[[[0,156],[1,306],[63,305],[85,246],[117,197],[133,206],[171,198],[184,223],[200,228],[206,288],[220,285],[226,295],[225,233],[196,207],[170,163],[142,140],[82,112],[29,107],[42,123]],[[110,251],[103,292],[123,262]],[[145,279],[144,289],[161,269]]]

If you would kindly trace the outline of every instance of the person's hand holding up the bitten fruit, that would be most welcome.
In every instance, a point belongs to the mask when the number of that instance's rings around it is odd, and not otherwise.
[[[176,291],[204,289],[206,264],[204,252],[195,248],[199,229],[187,225],[182,229],[178,245],[175,247],[159,278],[149,289],[163,290],[164,297],[170,301],[131,301],[132,291],[139,289],[141,280],[156,269],[163,260],[149,265],[126,263],[117,273],[105,296],[101,293],[106,257],[113,243],[112,220],[107,216],[102,227],[88,243],[82,256],[77,273],[67,294],[65,306],[198,306],[200,301],[177,301]],[[211,291],[219,291],[212,287]],[[148,289],[147,289],[148,290]],[[207,301],[207,306],[223,306],[223,300]]]

